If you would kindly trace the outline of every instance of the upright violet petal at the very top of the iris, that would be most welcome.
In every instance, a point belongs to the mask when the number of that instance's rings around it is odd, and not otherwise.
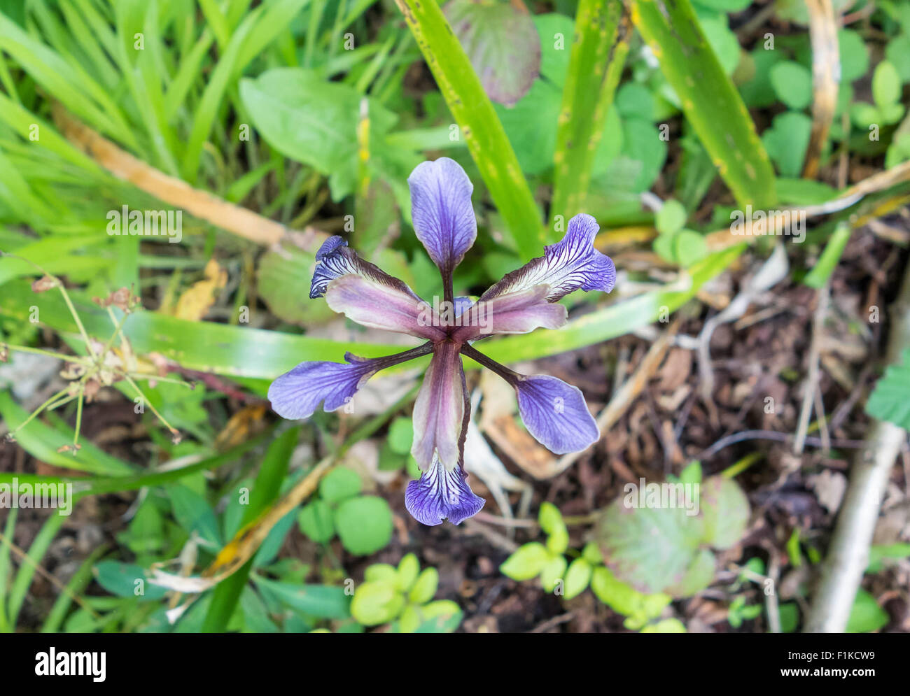
[[[477,237],[470,205],[474,185],[449,157],[421,162],[408,177],[410,213],[417,238],[445,273],[459,265]]]

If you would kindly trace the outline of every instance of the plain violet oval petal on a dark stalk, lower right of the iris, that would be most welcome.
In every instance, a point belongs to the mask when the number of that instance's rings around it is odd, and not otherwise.
[[[549,375],[522,377],[514,386],[525,428],[551,452],[579,452],[601,438],[578,387]]]

